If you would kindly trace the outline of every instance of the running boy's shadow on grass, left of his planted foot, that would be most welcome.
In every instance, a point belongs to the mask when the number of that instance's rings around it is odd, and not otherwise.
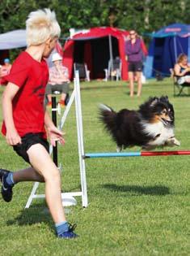
[[[28,209],[23,209],[15,219],[10,219],[6,223],[7,225],[17,224],[25,226],[42,222],[48,223],[49,227],[53,229],[51,215],[44,203],[35,204]]]

